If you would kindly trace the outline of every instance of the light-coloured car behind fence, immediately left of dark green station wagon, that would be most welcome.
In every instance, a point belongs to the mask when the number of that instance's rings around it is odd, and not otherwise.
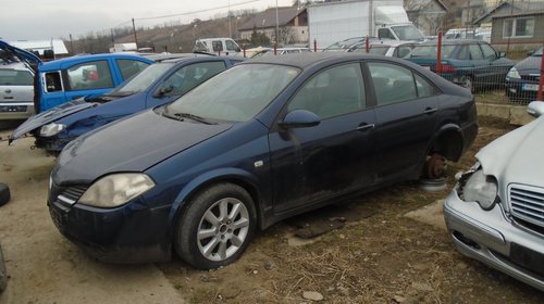
[[[401,40],[378,40],[369,41],[369,53],[385,56],[406,58],[418,46],[419,42],[401,41]],[[350,52],[366,53],[367,42],[355,45]]]

